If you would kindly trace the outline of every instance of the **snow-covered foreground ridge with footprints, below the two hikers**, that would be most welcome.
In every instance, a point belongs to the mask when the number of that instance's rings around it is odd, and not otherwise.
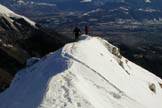
[[[162,108],[161,83],[110,43],[83,35],[29,60],[0,95],[0,108]]]

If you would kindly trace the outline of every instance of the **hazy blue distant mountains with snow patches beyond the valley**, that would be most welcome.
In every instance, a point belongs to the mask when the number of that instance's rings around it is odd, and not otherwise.
[[[0,0],[0,3],[28,17],[65,11],[88,12],[100,8],[106,11],[104,16],[113,15],[115,18],[162,18],[161,0]]]

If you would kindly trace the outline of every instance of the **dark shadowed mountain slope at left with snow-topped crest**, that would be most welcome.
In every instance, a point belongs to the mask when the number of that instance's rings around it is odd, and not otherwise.
[[[67,41],[57,32],[47,31],[0,4],[0,91],[10,84],[28,58],[44,56]]]

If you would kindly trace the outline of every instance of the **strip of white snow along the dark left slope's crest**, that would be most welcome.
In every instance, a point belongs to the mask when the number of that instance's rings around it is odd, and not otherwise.
[[[26,18],[25,16],[21,16],[18,15],[16,13],[14,13],[13,11],[11,11],[10,9],[8,9],[7,7],[3,6],[0,4],[0,16],[7,16],[7,17],[14,17],[14,18],[23,18],[24,20],[26,20],[29,24],[31,24],[32,26],[35,27],[35,22],[31,21],[30,19]]]

